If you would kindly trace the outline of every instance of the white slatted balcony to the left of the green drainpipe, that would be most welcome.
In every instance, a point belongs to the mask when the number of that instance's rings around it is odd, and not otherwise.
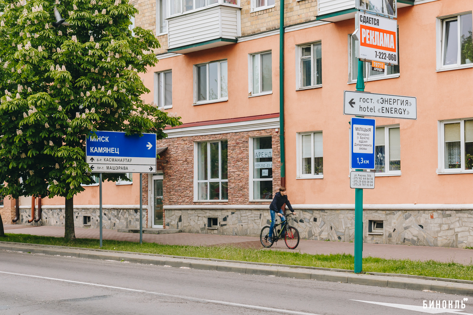
[[[168,17],[167,51],[188,53],[236,43],[241,33],[240,8],[226,2],[220,0],[194,10],[191,7],[188,12]]]

